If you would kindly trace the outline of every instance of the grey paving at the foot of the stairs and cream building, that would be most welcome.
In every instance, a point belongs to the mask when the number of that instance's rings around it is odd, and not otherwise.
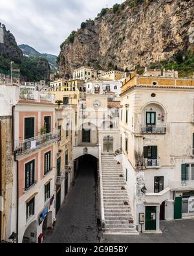
[[[162,234],[103,235],[103,243],[193,243],[194,219],[160,223]]]

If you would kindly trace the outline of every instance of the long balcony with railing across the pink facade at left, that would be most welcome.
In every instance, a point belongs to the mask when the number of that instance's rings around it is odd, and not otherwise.
[[[54,141],[59,140],[59,131],[52,132],[50,134],[43,134],[31,139],[26,139],[24,141],[16,141],[16,155],[22,156],[29,154],[43,146],[47,146]]]

